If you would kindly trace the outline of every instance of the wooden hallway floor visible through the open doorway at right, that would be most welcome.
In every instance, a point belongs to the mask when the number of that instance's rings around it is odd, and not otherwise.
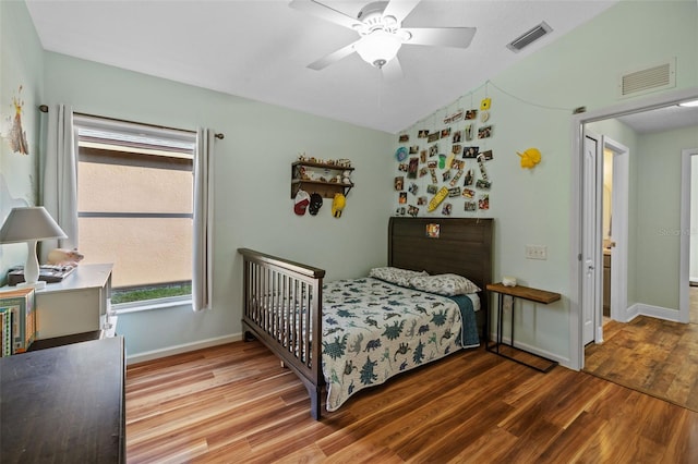
[[[585,351],[585,371],[698,412],[698,288],[690,292],[690,323],[605,322],[604,342]]]

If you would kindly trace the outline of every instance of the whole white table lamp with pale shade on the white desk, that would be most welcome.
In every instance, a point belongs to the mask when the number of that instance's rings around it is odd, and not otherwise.
[[[17,286],[43,289],[46,282],[39,281],[39,260],[36,256],[36,243],[39,240],[67,239],[65,232],[56,223],[43,206],[12,208],[0,229],[0,243],[26,242],[27,256],[24,266],[24,283]]]

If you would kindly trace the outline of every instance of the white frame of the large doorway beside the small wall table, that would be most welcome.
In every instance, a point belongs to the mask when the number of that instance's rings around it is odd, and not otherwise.
[[[583,125],[638,111],[653,110],[681,101],[698,99],[698,88],[669,91],[609,108],[573,115],[570,125],[570,207],[569,207],[569,367],[579,370],[585,365],[581,314],[581,173]]]

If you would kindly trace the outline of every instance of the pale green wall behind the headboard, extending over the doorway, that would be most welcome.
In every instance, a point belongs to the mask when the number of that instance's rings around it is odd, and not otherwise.
[[[676,85],[663,91],[698,88],[696,2],[621,1],[465,93],[450,107],[425,114],[405,130],[411,141],[417,139],[417,131],[441,129],[443,117],[459,106],[468,107],[471,101],[479,105],[484,97],[492,99],[489,123],[494,136],[484,143],[494,154],[494,159],[486,162],[492,181],[490,210],[470,213],[458,206],[453,216],[495,218],[495,280],[515,276],[525,285],[562,293],[562,301],[551,305],[524,303],[515,323],[517,341],[563,364],[570,357],[570,268],[576,265],[571,261],[569,229],[573,160],[577,159],[570,149],[573,109],[583,106],[592,111],[642,101],[648,95],[618,96],[619,77],[672,58],[676,60]],[[434,127],[430,126],[432,121],[436,121]],[[398,146],[395,141],[394,150]],[[533,170],[521,169],[516,155],[528,147],[539,148],[543,157]],[[397,172],[394,161],[389,182]],[[397,206],[393,193],[393,208]],[[637,236],[638,246],[645,239]],[[526,259],[526,244],[546,245],[547,260]],[[641,276],[637,281],[637,285],[645,282]],[[637,288],[633,291],[638,298],[641,296]]]

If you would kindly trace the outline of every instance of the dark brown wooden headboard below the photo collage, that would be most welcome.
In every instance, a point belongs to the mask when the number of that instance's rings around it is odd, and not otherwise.
[[[438,237],[426,233],[429,224],[438,225]],[[493,219],[407,218],[388,222],[388,266],[457,273],[484,291],[492,283]],[[482,308],[488,298],[481,293]]]

